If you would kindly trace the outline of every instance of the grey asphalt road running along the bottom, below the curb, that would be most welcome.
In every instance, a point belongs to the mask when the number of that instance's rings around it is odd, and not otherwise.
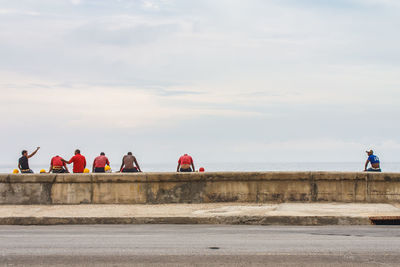
[[[400,227],[0,226],[0,265],[398,266]]]

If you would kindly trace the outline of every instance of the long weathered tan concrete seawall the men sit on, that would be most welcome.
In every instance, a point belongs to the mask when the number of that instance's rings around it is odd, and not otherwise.
[[[0,204],[400,203],[400,173],[3,174]]]

